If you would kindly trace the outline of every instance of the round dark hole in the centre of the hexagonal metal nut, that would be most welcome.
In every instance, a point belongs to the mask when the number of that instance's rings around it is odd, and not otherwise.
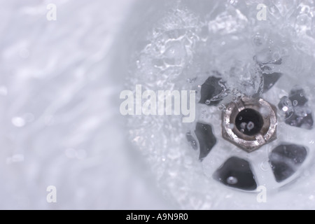
[[[235,125],[239,132],[248,136],[253,136],[260,132],[264,121],[258,111],[253,109],[244,109],[237,114]]]

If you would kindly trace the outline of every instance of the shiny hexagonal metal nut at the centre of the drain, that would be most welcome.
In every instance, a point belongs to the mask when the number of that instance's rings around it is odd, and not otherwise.
[[[223,111],[222,135],[247,153],[276,139],[276,107],[264,99],[243,97]]]

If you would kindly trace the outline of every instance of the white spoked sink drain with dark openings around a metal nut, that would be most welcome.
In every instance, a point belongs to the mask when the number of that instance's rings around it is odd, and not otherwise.
[[[268,78],[264,80],[268,82]],[[223,105],[228,98],[216,94],[224,92],[225,83],[220,76],[207,78],[200,91],[200,104]],[[313,112],[304,89],[293,87],[288,97],[280,99],[279,110],[260,96],[230,99],[238,101],[225,103],[221,106],[224,111],[215,116],[214,110],[209,110],[213,116],[202,116],[195,131],[186,134],[194,150],[199,151],[204,174],[225,186],[248,192],[258,191],[258,186],[276,190],[301,176],[312,157],[309,143],[301,135],[302,130],[313,127]],[[300,137],[286,136],[283,134],[286,130]],[[303,133],[311,137],[312,132]],[[231,144],[226,144],[227,141]]]

